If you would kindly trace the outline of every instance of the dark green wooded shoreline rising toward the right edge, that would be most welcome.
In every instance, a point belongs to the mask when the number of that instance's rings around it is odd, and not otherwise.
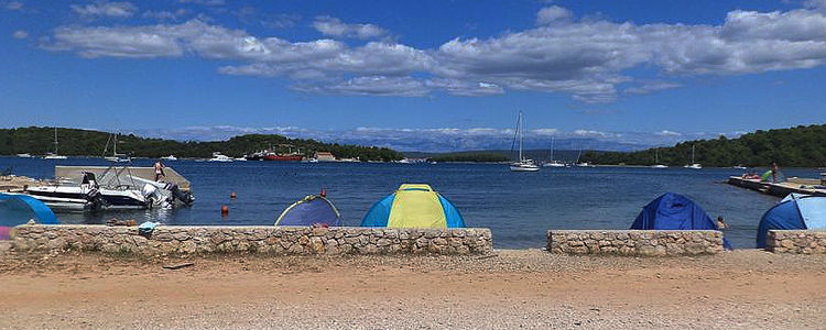
[[[737,139],[720,135],[713,140],[677,143],[671,147],[648,148],[637,152],[587,152],[583,161],[595,164],[682,166],[692,161],[704,166],[749,167],[769,166],[778,162],[781,166],[820,167],[826,165],[826,124],[798,125],[790,129],[756,131]]]

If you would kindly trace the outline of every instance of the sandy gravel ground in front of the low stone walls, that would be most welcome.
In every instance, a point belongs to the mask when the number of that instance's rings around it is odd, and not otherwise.
[[[824,255],[181,261],[0,257],[0,328],[826,327]]]

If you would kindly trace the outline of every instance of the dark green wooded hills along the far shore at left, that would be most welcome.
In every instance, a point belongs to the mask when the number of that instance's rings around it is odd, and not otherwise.
[[[108,148],[111,155],[111,133],[79,130],[57,129],[57,152],[67,156],[105,156]],[[107,147],[107,143],[109,144]],[[301,151],[312,156],[315,152],[330,152],[339,158],[359,158],[361,161],[398,161],[403,154],[388,147],[361,146],[354,144],[324,143],[313,139],[290,139],[276,134],[247,134],[231,138],[227,141],[175,141],[165,139],[141,138],[134,134],[118,135],[118,153],[133,157],[156,158],[166,155],[177,157],[206,158],[214,152],[220,152],[232,157],[240,157],[254,152],[270,148],[276,153]],[[17,128],[0,129],[0,155],[29,153],[41,155],[54,152],[54,128]]]

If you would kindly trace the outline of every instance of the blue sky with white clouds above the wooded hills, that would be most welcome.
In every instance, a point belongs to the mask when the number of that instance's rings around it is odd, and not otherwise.
[[[2,0],[0,0],[2,1]],[[4,1],[0,127],[627,148],[826,121],[826,1]]]

